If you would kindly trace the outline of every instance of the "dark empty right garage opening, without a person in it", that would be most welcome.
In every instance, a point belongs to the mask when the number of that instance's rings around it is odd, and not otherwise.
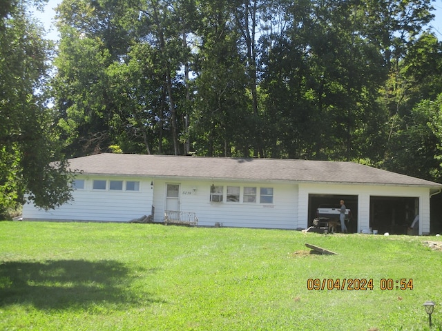
[[[419,234],[419,222],[410,230],[419,215],[419,198],[370,197],[370,228],[383,234]]]

